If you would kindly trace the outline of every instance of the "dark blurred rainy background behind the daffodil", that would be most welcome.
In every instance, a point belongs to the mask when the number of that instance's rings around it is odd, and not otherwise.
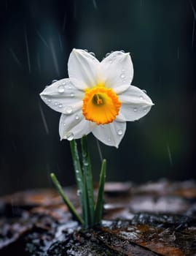
[[[128,123],[119,149],[101,143],[107,181],[196,178],[195,10],[188,0],[1,1],[0,194],[50,187],[51,171],[63,186],[74,184],[60,114],[39,98],[68,76],[72,48],[100,60],[111,50],[130,52],[133,85],[155,103]],[[88,140],[97,181],[97,144]]]

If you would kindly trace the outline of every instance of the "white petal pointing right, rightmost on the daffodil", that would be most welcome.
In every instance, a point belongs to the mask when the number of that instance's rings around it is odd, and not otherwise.
[[[154,105],[148,95],[136,86],[130,86],[118,97],[122,102],[119,112],[127,121],[135,121],[145,116]]]

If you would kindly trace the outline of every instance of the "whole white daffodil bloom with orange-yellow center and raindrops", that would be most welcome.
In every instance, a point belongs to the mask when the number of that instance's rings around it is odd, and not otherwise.
[[[114,51],[98,61],[86,50],[73,49],[69,78],[52,83],[40,96],[61,114],[60,138],[72,140],[93,132],[108,146],[118,147],[126,121],[135,121],[151,109],[152,100],[136,86],[129,53]]]

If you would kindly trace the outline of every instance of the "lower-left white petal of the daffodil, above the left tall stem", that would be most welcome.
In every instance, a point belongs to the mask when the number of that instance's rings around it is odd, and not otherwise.
[[[93,122],[84,118],[81,110],[70,116],[62,114],[59,121],[60,139],[73,140],[82,138],[83,135],[90,133],[94,126]]]

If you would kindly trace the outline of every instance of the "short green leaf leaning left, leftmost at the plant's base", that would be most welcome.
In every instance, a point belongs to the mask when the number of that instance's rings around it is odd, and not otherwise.
[[[66,197],[65,193],[63,192],[62,187],[60,186],[60,183],[58,182],[58,179],[55,176],[55,173],[50,173],[50,177],[52,178],[52,182],[55,185],[55,188],[57,189],[58,193],[62,197],[64,203],[66,203],[68,210],[71,212],[73,217],[75,217],[75,219],[77,219],[78,222],[80,222],[82,225],[84,225],[84,220],[79,216],[79,214],[77,213],[73,204],[70,202],[70,200],[68,200],[68,197]]]

